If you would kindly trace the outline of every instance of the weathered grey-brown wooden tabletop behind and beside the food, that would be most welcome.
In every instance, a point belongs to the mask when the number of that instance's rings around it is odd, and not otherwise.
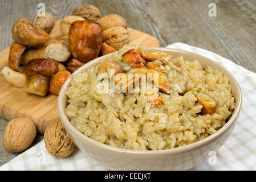
[[[101,16],[118,14],[128,26],[151,34],[165,47],[174,42],[208,49],[256,72],[256,1],[255,0],[75,0],[27,1],[1,0],[0,51],[13,42],[11,27],[18,18],[33,19],[39,2],[46,5],[56,20],[70,15],[75,7],[91,4]],[[209,3],[216,3],[217,16],[209,16]],[[17,103],[18,104],[18,103]],[[7,121],[0,118],[0,166],[18,154],[2,146]],[[38,135],[34,144],[43,139]]]

